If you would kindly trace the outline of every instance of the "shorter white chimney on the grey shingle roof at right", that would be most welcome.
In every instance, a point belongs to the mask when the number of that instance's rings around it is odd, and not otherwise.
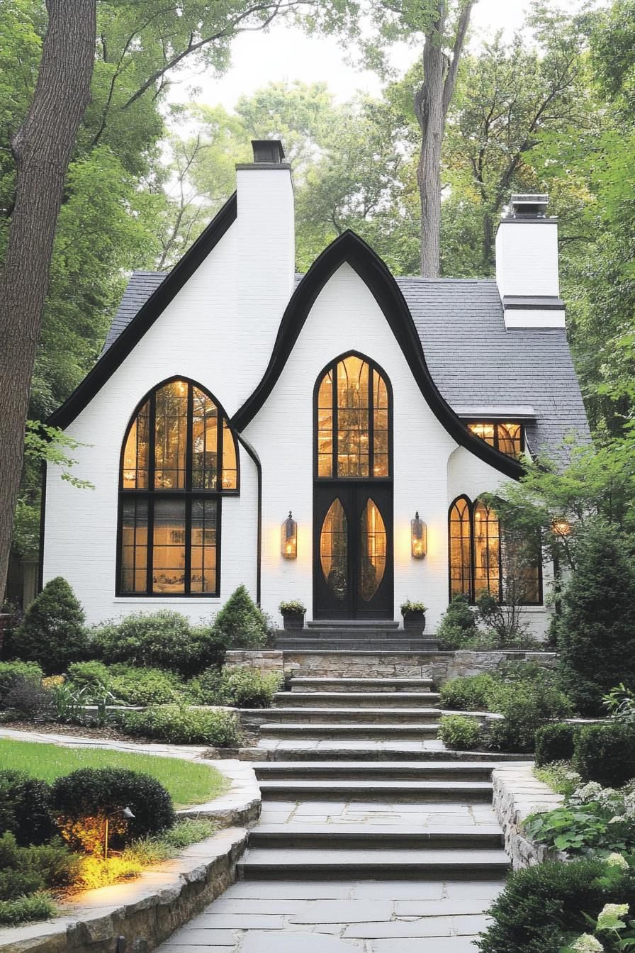
[[[564,328],[558,275],[558,219],[548,195],[512,195],[496,233],[496,283],[505,326]]]

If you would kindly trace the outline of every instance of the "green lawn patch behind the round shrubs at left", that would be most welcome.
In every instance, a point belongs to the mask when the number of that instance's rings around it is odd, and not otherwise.
[[[33,778],[54,781],[76,768],[87,767],[143,771],[168,788],[176,808],[211,801],[227,790],[228,786],[216,768],[178,758],[0,739],[0,768],[24,771]]]

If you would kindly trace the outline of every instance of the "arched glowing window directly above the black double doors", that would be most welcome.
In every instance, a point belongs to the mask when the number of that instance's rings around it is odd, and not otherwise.
[[[372,361],[336,360],[316,389],[316,476],[390,476],[390,395]]]

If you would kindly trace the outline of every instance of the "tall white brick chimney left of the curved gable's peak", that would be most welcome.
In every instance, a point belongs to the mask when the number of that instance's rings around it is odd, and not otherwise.
[[[251,145],[253,162],[236,166],[237,303],[255,387],[293,291],[295,220],[291,167],[282,143],[264,139]]]

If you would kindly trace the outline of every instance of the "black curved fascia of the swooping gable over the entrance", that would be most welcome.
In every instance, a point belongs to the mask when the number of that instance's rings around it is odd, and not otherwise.
[[[460,446],[466,447],[474,456],[478,456],[506,476],[515,479],[522,476],[524,473],[522,464],[490,447],[480,437],[471,434],[463,420],[449,406],[428,371],[421,340],[397,282],[379,255],[373,252],[359,235],[350,231],[339,235],[316,258],[291,295],[265,375],[253,394],[231,418],[231,425],[238,432],[243,431],[263,407],[282,374],[315,299],[327,284],[328,279],[345,262],[359,274],[374,295],[406,357],[421,393],[426,398],[432,413],[446,428],[447,433]]]

